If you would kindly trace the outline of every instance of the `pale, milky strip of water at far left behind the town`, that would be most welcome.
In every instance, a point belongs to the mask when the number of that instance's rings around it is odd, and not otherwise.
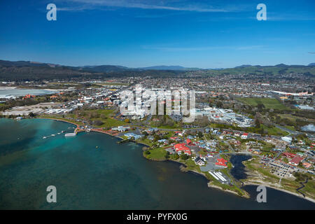
[[[55,90],[36,90],[36,89],[0,89],[0,98],[22,97],[26,94],[44,95],[53,94]]]

